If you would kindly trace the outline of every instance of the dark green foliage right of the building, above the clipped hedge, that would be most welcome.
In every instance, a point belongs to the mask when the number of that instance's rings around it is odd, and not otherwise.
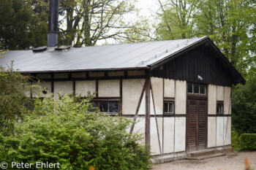
[[[232,124],[238,134],[256,134],[256,77],[246,85],[236,85],[232,92]]]

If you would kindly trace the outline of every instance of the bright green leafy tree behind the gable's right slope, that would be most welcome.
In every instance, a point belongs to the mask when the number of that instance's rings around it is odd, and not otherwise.
[[[198,1],[195,14],[197,36],[208,35],[241,74],[246,74],[252,53],[249,29],[253,6],[242,0]]]

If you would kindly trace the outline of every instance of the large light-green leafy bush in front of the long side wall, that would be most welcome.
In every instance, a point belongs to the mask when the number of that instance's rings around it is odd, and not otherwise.
[[[48,161],[61,169],[148,169],[148,149],[138,144],[140,136],[126,131],[131,122],[87,112],[90,105],[88,99],[74,102],[68,96],[37,98],[15,134],[0,136],[0,160]]]

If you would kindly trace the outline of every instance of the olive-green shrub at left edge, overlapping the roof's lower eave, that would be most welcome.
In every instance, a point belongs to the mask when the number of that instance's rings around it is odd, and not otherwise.
[[[30,89],[29,77],[10,68],[0,67],[0,131],[2,135],[13,133],[13,126],[23,119],[31,101],[26,97]]]

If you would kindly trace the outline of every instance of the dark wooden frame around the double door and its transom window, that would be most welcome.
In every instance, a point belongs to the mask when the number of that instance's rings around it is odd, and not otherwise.
[[[193,82],[187,82],[187,85],[188,83],[192,83],[194,84]],[[198,84],[198,83],[195,83],[195,84]],[[202,85],[205,85],[205,84],[202,84]],[[186,88],[186,93],[188,91],[188,86]],[[189,137],[189,134],[188,134],[188,125],[189,125],[189,119],[188,119],[188,100],[189,99],[196,99],[196,100],[203,100],[203,101],[207,101],[206,102],[206,149],[207,149],[207,142],[208,142],[208,85],[206,85],[206,95],[197,95],[197,94],[189,94],[187,93],[186,94],[186,147],[185,147],[185,151],[188,152],[188,137]]]

